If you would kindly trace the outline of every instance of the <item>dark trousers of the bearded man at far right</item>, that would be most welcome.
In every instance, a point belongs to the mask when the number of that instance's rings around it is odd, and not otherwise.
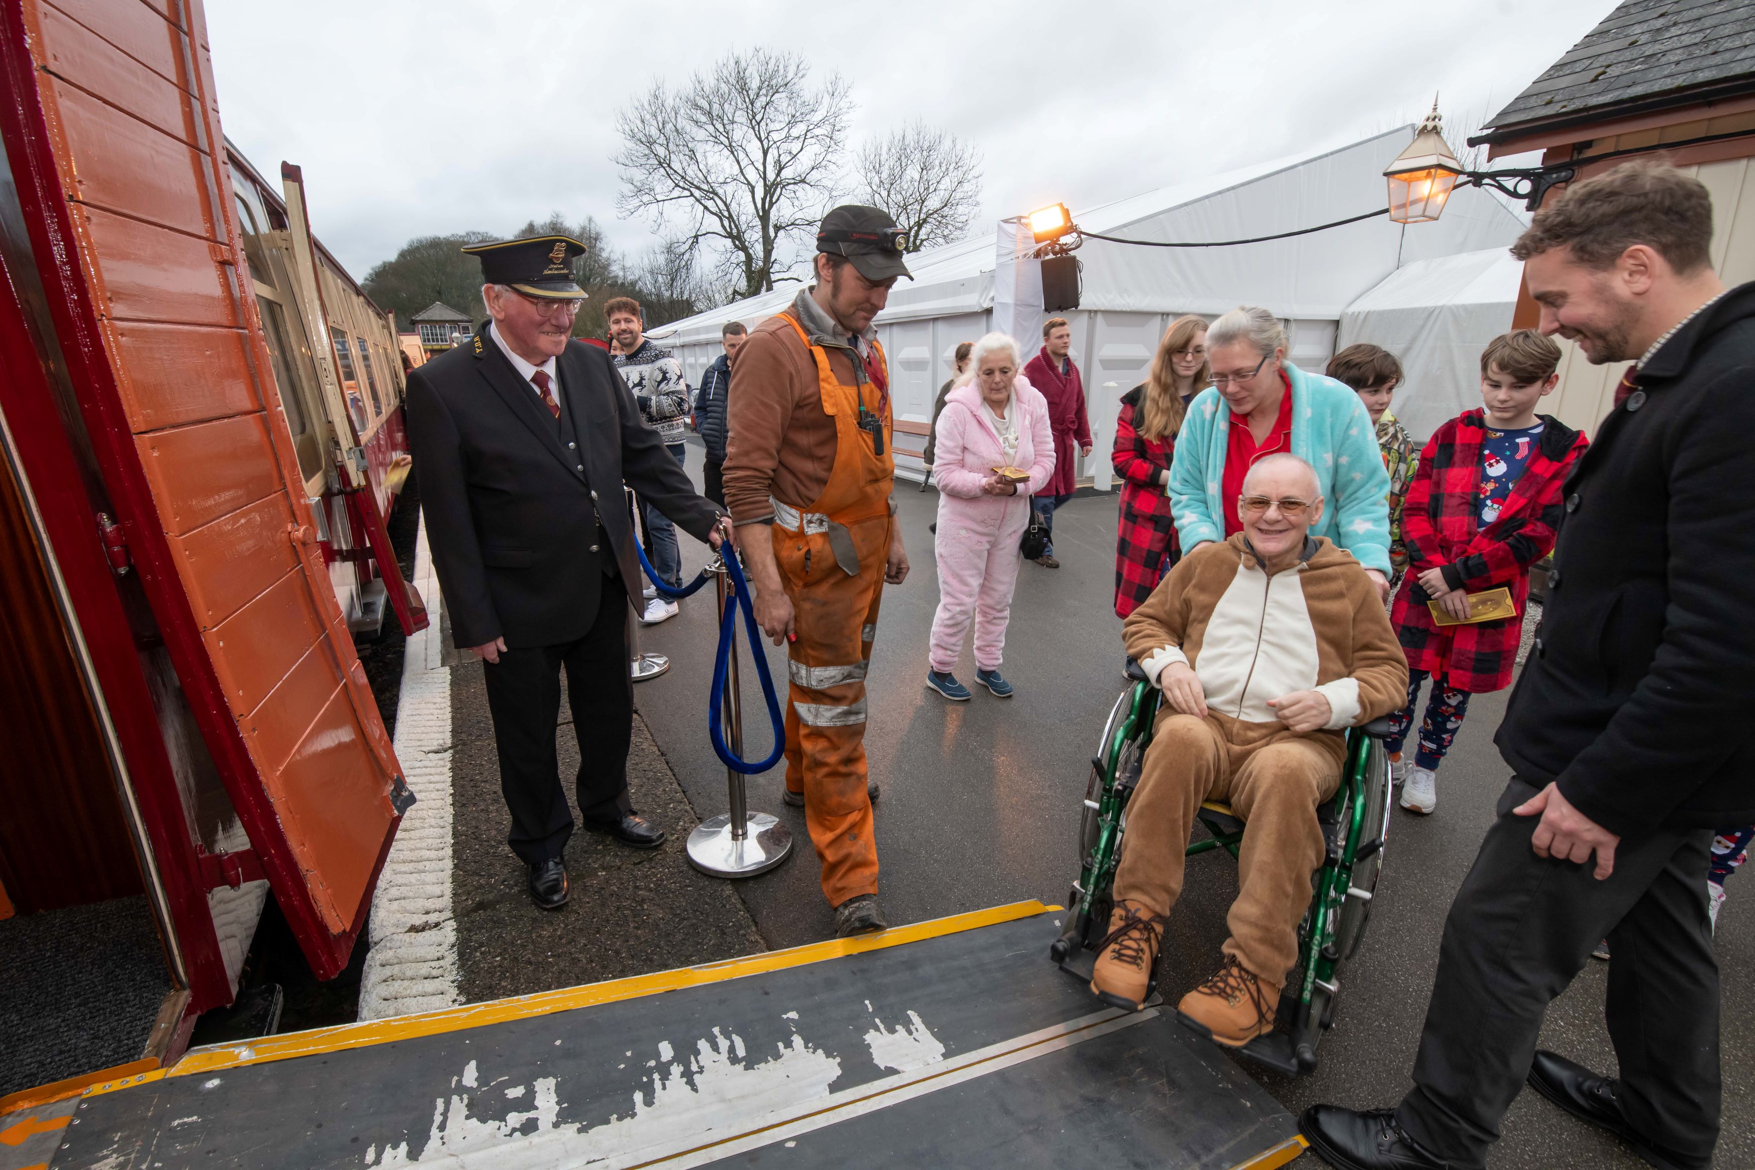
[[[1511,779],[1450,907],[1415,1088],[1395,1117],[1451,1166],[1485,1166],[1523,1088],[1548,1002],[1606,937],[1604,1014],[1622,1110],[1676,1165],[1709,1166],[1720,1105],[1718,961],[1706,914],[1713,833],[1627,837],[1615,872],[1597,881],[1594,861],[1551,861],[1530,849],[1541,817],[1511,809],[1536,791]]]

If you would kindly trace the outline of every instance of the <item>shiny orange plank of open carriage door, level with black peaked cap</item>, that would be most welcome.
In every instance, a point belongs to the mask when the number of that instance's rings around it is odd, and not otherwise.
[[[226,289],[218,244],[167,232],[128,216],[79,205],[74,223],[91,242],[86,260],[109,316],[237,328],[237,298]],[[230,251],[226,251],[230,258]]]

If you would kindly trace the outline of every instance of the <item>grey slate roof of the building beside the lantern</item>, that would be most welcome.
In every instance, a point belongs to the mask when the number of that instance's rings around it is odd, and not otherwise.
[[[1750,0],[1627,0],[1469,142],[1746,93],[1755,93]]]

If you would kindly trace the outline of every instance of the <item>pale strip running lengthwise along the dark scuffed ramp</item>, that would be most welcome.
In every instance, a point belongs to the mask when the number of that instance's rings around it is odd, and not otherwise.
[[[911,1102],[916,1096],[927,1096],[928,1093],[937,1093],[939,1089],[949,1089],[963,1084],[965,1081],[974,1081],[976,1077],[985,1077],[1002,1068],[1011,1068],[1013,1065],[1023,1065],[1025,1061],[1048,1056],[1049,1052],[1060,1052],[1074,1044],[1095,1040],[1097,1037],[1106,1037],[1111,1031],[1120,1031],[1121,1028],[1132,1028],[1134,1024],[1143,1024],[1148,1019],[1157,1019],[1157,1007],[1148,1007],[1143,1012],[1118,1012],[1111,1009],[1081,1016],[1079,1019],[1072,1019],[1064,1024],[1055,1024],[1028,1035],[1013,1037],[1011,1040],[990,1044],[985,1049],[965,1052],[963,1056],[944,1063],[923,1065],[921,1068],[862,1086],[860,1089],[855,1089],[855,1093],[858,1093],[858,1100],[848,1102],[846,1105],[811,1112],[806,1117],[774,1124],[772,1128],[763,1128],[758,1133],[748,1133],[744,1137],[728,1138],[686,1154],[656,1158],[641,1165],[665,1166],[667,1170],[686,1170],[688,1166],[713,1165],[751,1149],[784,1142],[788,1138],[811,1133],[813,1130],[823,1130],[841,1121],[849,1121],[853,1117],[878,1112],[879,1109],[890,1109],[892,1105]],[[806,1107],[816,1102],[807,1102]]]

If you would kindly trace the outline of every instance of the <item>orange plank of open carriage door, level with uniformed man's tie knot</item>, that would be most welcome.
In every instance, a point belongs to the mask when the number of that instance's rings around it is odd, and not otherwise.
[[[156,321],[107,325],[135,433],[261,410],[240,332]]]

